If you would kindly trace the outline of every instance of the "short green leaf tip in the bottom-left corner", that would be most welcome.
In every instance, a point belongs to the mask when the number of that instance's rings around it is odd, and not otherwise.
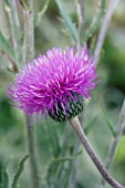
[[[0,188],[9,188],[9,176],[2,165],[0,165]]]

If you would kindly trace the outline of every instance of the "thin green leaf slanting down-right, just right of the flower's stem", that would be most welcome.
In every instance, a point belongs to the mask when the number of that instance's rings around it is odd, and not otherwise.
[[[111,133],[112,133],[113,136],[115,137],[115,136],[116,136],[116,132],[115,132],[113,125],[111,124],[111,122],[110,122],[110,119],[108,119],[108,116],[107,116],[107,114],[106,114],[106,111],[105,111],[105,108],[104,108],[104,106],[103,106],[103,103],[102,103],[101,97],[100,97],[98,94],[96,94],[96,98],[97,98],[96,101],[97,101],[97,104],[98,104],[98,106],[100,106],[100,108],[101,108],[102,115],[103,115],[103,117],[104,117],[104,119],[105,119],[105,122],[106,122],[106,125],[108,126]]]

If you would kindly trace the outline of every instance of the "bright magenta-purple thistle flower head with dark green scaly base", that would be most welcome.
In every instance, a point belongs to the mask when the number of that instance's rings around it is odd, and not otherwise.
[[[83,111],[95,87],[95,65],[87,48],[53,48],[28,63],[8,88],[9,97],[27,114],[48,113],[63,122]]]

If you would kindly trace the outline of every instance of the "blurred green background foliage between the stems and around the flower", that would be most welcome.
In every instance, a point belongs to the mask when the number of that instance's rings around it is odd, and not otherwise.
[[[34,1],[34,15],[40,11],[45,0]],[[76,18],[76,1],[63,0],[73,22]],[[86,28],[96,13],[96,1],[86,1],[85,17]],[[22,22],[21,7],[18,4],[20,21]],[[0,31],[6,36],[10,35],[8,15],[4,10],[4,0],[0,0]],[[95,33],[96,35],[97,33]],[[52,46],[65,48],[72,45],[66,29],[62,22],[58,6],[54,0],[50,0],[48,10],[42,17],[40,24],[35,28],[35,56],[44,53]],[[7,167],[10,175],[10,182],[17,169],[18,163],[27,154],[24,115],[9,104],[6,95],[7,86],[13,81],[13,73],[8,71],[8,61],[0,53],[0,168]],[[117,128],[118,113],[125,95],[125,2],[121,0],[116,7],[107,36],[102,50],[100,64],[97,66],[100,83],[92,95],[92,101],[85,111],[87,136],[93,144],[101,159],[105,161],[110,142],[111,130],[102,115],[97,103],[96,93],[100,95],[110,122]],[[75,154],[75,134],[67,123],[59,124],[50,118],[41,117],[37,123],[37,140],[40,160],[40,178],[42,185],[56,185],[56,187],[70,188],[73,181],[72,164],[77,158],[76,188],[95,188],[101,180],[101,175],[94,167],[83,147]],[[88,126],[91,128],[88,128]],[[64,159],[64,156],[72,156]],[[73,157],[74,156],[74,157]],[[59,161],[55,158],[63,157]],[[60,163],[60,165],[59,165]],[[1,170],[1,169],[0,169]],[[30,187],[30,169],[28,163],[20,179],[20,188]],[[125,136],[121,138],[115,161],[112,167],[112,175],[125,185]],[[48,186],[49,186],[48,185]],[[50,186],[51,187],[51,186]],[[107,186],[110,187],[110,186]]]

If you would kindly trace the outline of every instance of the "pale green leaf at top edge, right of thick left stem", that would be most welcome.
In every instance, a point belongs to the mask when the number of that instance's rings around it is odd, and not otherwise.
[[[34,27],[38,27],[40,24],[41,18],[44,15],[44,13],[48,10],[50,0],[44,0],[43,6],[40,9],[40,12],[38,13],[37,19],[34,20]]]

